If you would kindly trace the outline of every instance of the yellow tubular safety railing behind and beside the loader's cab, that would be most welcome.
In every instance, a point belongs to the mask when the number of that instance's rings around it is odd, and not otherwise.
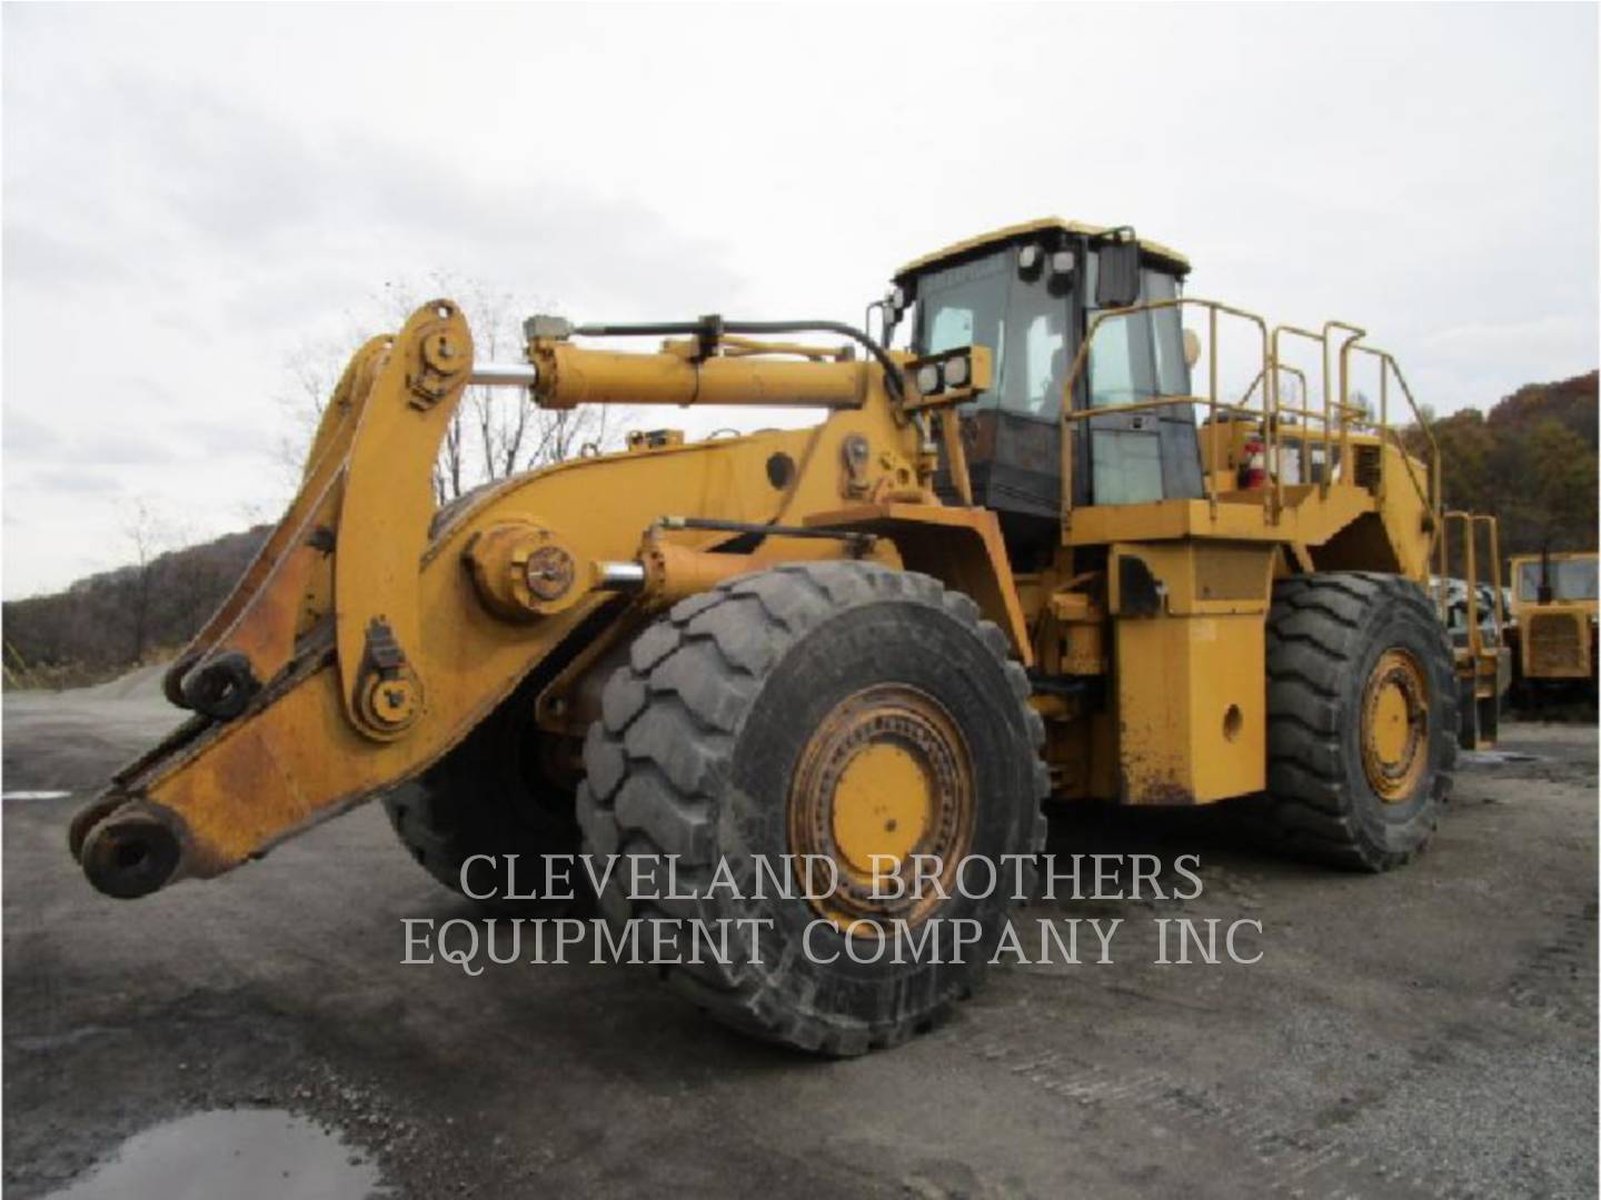
[[[1077,389],[1079,379],[1089,366],[1090,350],[1095,342],[1095,336],[1100,333],[1101,326],[1111,320],[1124,320],[1138,314],[1159,312],[1161,309],[1182,309],[1196,307],[1204,309],[1207,314],[1207,394],[1206,395],[1162,395],[1151,400],[1138,400],[1124,405],[1106,405],[1100,408],[1085,406],[1082,410],[1073,408],[1073,395]],[[1218,398],[1218,317],[1234,317],[1249,322],[1257,328],[1262,342],[1262,368],[1257,371],[1250,386],[1246,389],[1239,400],[1220,400]],[[1334,478],[1334,467],[1338,461],[1342,470],[1351,470],[1351,432],[1366,430],[1378,438],[1380,454],[1378,454],[1378,496],[1383,498],[1388,490],[1388,466],[1385,461],[1383,446],[1394,445],[1401,453],[1401,464],[1417,491],[1418,499],[1423,506],[1436,515],[1433,536],[1439,538],[1439,504],[1441,504],[1441,477],[1439,477],[1439,446],[1434,443],[1434,435],[1430,432],[1428,424],[1423,421],[1423,414],[1417,408],[1417,402],[1412,398],[1412,389],[1406,382],[1406,376],[1401,374],[1401,368],[1394,357],[1385,350],[1374,349],[1370,346],[1361,346],[1361,339],[1367,336],[1367,331],[1358,325],[1348,322],[1330,320],[1324,322],[1322,331],[1314,333],[1311,330],[1303,330],[1295,325],[1276,325],[1271,330],[1268,323],[1254,312],[1246,309],[1236,309],[1218,301],[1201,299],[1194,296],[1182,296],[1178,299],[1161,299],[1148,301],[1145,304],[1132,304],[1122,309],[1106,309],[1097,314],[1095,320],[1090,323],[1089,331],[1084,336],[1079,352],[1073,358],[1073,366],[1068,371],[1068,379],[1063,389],[1063,438],[1061,438],[1061,480],[1063,480],[1063,499],[1061,499],[1061,515],[1063,520],[1071,518],[1073,512],[1073,422],[1076,421],[1093,421],[1100,416],[1109,416],[1114,413],[1138,413],[1150,411],[1156,408],[1169,408],[1175,405],[1206,405],[1207,408],[1207,435],[1210,437],[1210,469],[1206,472],[1206,499],[1210,504],[1212,514],[1217,514],[1217,483],[1215,474],[1218,464],[1223,462],[1222,456],[1222,424],[1217,418],[1218,413],[1241,413],[1262,419],[1262,437],[1263,450],[1266,453],[1266,461],[1270,464],[1268,470],[1268,490],[1270,498],[1266,504],[1268,518],[1278,522],[1279,514],[1284,510],[1284,482],[1282,482],[1282,450],[1286,442],[1297,442],[1298,453],[1305,458],[1310,477],[1311,466],[1311,443],[1322,443],[1322,472],[1319,478],[1319,486],[1327,494],[1327,488]],[[1306,395],[1306,374],[1295,366],[1281,362],[1279,342],[1281,338],[1302,338],[1305,341],[1314,342],[1321,354],[1321,370],[1322,370],[1322,406],[1321,410],[1308,408]],[[1330,378],[1330,349],[1335,350],[1337,371]],[[1351,374],[1351,355],[1367,354],[1378,360],[1378,418],[1377,421],[1367,413],[1361,405],[1353,405],[1350,400],[1350,374]],[[1302,382],[1302,403],[1286,405],[1279,395],[1279,376],[1292,374]],[[1401,386],[1401,394],[1412,411],[1412,419],[1417,427],[1423,430],[1423,437],[1428,440],[1428,474],[1425,480],[1418,480],[1417,472],[1412,467],[1412,459],[1407,454],[1406,443],[1401,440],[1399,432],[1390,427],[1390,378],[1394,376],[1396,382]],[[1257,389],[1262,389],[1262,397],[1252,403],[1252,397]],[[1284,424],[1284,418],[1294,418],[1302,424]],[[1433,552],[1433,547],[1431,547]]]

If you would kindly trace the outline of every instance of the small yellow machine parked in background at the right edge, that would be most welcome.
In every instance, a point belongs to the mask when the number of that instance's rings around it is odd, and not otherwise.
[[[1521,690],[1596,685],[1596,554],[1532,554],[1508,563]]]

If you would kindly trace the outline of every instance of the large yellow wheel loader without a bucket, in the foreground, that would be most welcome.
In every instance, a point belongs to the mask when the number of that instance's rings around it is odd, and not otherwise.
[[[1012,888],[967,894],[954,872],[1026,862],[1047,798],[1262,795],[1298,851],[1406,862],[1451,786],[1459,686],[1481,693],[1486,669],[1454,656],[1422,587],[1438,462],[1390,427],[1391,392],[1410,394],[1359,328],[1183,298],[1188,269],[1127,229],[1036,221],[900,270],[869,306],[877,338],[535,317],[512,366],[474,360],[453,302],[419,309],[351,360],[298,496],[167,677],[194,715],[78,814],[74,853],[102,891],[142,896],[383,795],[450,886],[492,866],[474,856],[620,854],[612,920],[773,923],[759,954],[738,926],[725,962],[669,979],[839,1054],[980,982]],[[1238,398],[1225,323],[1255,365]],[[576,341],[616,336],[666,341]],[[1321,403],[1281,397],[1292,341],[1322,357]],[[1348,395],[1359,355],[1377,411]],[[429,467],[469,381],[546,406],[828,418],[640,434],[435,510]],[[833,886],[703,886],[786,854],[831,861]],[[668,856],[690,896],[642,898]],[[914,856],[940,866],[893,894],[874,856],[901,883]],[[932,920],[977,944],[863,952]]]

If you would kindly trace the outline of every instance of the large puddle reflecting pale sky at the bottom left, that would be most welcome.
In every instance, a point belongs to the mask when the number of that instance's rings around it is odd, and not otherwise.
[[[46,1200],[368,1200],[378,1168],[338,1134],[282,1109],[195,1112],[136,1133]]]

